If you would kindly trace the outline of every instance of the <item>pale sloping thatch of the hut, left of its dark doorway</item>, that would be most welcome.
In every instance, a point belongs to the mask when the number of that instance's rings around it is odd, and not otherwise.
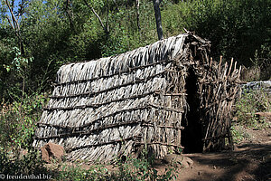
[[[55,142],[68,159],[92,161],[136,154],[143,145],[156,157],[182,148],[187,64],[210,61],[209,47],[185,33],[114,57],[63,65],[33,146]]]

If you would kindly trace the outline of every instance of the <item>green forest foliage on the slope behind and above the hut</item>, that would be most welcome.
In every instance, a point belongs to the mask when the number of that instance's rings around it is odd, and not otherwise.
[[[157,40],[152,1],[140,1],[138,22],[135,1],[88,1],[103,24],[108,25],[108,33],[83,0],[70,1],[70,5],[59,0],[25,1],[19,17],[25,52],[20,59],[28,63],[22,78],[10,72],[14,47],[20,45],[5,17],[7,7],[1,2],[0,95],[5,100],[10,100],[6,88],[12,87],[15,94],[22,95],[22,79],[25,92],[48,90],[47,80],[53,80],[65,62],[116,55]],[[160,6],[164,37],[182,33],[185,27],[210,39],[215,58],[220,54],[226,60],[234,57],[246,66],[253,65],[253,59],[266,74],[260,78],[270,78],[270,0],[166,0]]]

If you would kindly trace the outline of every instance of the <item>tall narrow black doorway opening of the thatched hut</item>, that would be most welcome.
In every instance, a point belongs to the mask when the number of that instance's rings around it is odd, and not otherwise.
[[[187,104],[189,109],[186,119],[182,121],[182,146],[184,153],[202,152],[202,133],[200,115],[200,95],[198,93],[198,77],[194,70],[189,68],[186,78],[185,89],[187,90]]]

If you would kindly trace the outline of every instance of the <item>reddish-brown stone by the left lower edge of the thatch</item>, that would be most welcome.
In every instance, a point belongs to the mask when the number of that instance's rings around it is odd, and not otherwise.
[[[52,159],[61,161],[61,157],[64,155],[64,148],[61,145],[49,142],[41,148],[41,152],[42,160],[51,163]]]

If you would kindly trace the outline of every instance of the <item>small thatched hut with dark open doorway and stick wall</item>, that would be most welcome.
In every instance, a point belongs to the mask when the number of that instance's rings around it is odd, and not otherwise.
[[[210,42],[183,33],[117,56],[61,66],[33,147],[107,162],[220,150],[230,135],[237,63],[214,62]]]

